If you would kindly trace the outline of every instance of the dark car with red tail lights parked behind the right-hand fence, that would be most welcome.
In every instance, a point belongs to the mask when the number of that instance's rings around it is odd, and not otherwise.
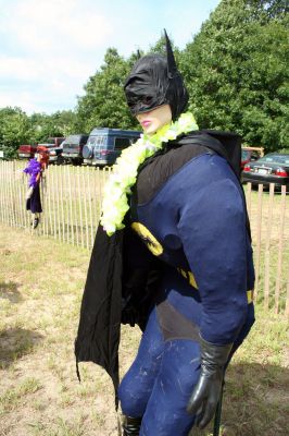
[[[269,153],[255,162],[246,164],[242,180],[251,182],[252,186],[275,183],[280,189],[285,184],[289,191],[289,154]]]

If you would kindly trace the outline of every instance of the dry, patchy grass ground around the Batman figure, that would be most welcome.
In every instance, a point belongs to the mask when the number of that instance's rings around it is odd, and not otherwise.
[[[81,384],[75,373],[89,251],[4,226],[0,240],[0,435],[116,436],[110,378],[93,364],[80,364]],[[223,436],[289,434],[287,326],[282,315],[256,307],[227,372]],[[121,375],[139,338],[137,328],[123,328]]]

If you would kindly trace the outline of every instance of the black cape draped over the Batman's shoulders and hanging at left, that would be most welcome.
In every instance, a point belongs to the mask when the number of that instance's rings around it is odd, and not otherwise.
[[[185,147],[183,147],[185,145]],[[181,147],[184,153],[176,154],[174,171],[190,160],[192,156],[206,150],[224,157],[240,178],[241,138],[240,136],[218,131],[198,131],[178,137],[168,143],[163,150],[147,159],[139,172],[148,167],[160,155],[165,155],[172,149]],[[179,158],[178,158],[179,156]],[[166,166],[164,165],[165,169]],[[148,168],[147,168],[148,170]],[[165,170],[164,170],[165,172]],[[164,178],[171,174],[156,174],[160,186]],[[155,174],[153,174],[155,178]],[[151,187],[142,183],[139,186],[142,194],[150,196],[146,190]],[[144,192],[143,192],[144,191]],[[243,196],[244,208],[246,201]],[[247,219],[250,234],[250,225]],[[111,376],[115,388],[115,405],[117,408],[118,377],[118,344],[121,338],[122,320],[122,288],[123,288],[123,242],[124,230],[116,231],[112,237],[99,226],[91,252],[90,264],[83,295],[78,332],[75,340],[75,356],[77,375],[79,362],[95,362],[101,365]]]

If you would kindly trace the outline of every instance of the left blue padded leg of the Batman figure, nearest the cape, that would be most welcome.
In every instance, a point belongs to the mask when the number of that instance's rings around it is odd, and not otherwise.
[[[136,360],[118,388],[122,411],[125,415],[133,417],[143,415],[160,370],[163,349],[163,336],[154,308],[142,335]]]

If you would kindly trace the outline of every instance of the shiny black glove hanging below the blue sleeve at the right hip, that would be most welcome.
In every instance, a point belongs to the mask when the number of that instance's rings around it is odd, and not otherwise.
[[[214,416],[221,397],[224,368],[233,344],[215,346],[200,338],[201,373],[187,405],[196,414],[194,425],[204,428]]]

